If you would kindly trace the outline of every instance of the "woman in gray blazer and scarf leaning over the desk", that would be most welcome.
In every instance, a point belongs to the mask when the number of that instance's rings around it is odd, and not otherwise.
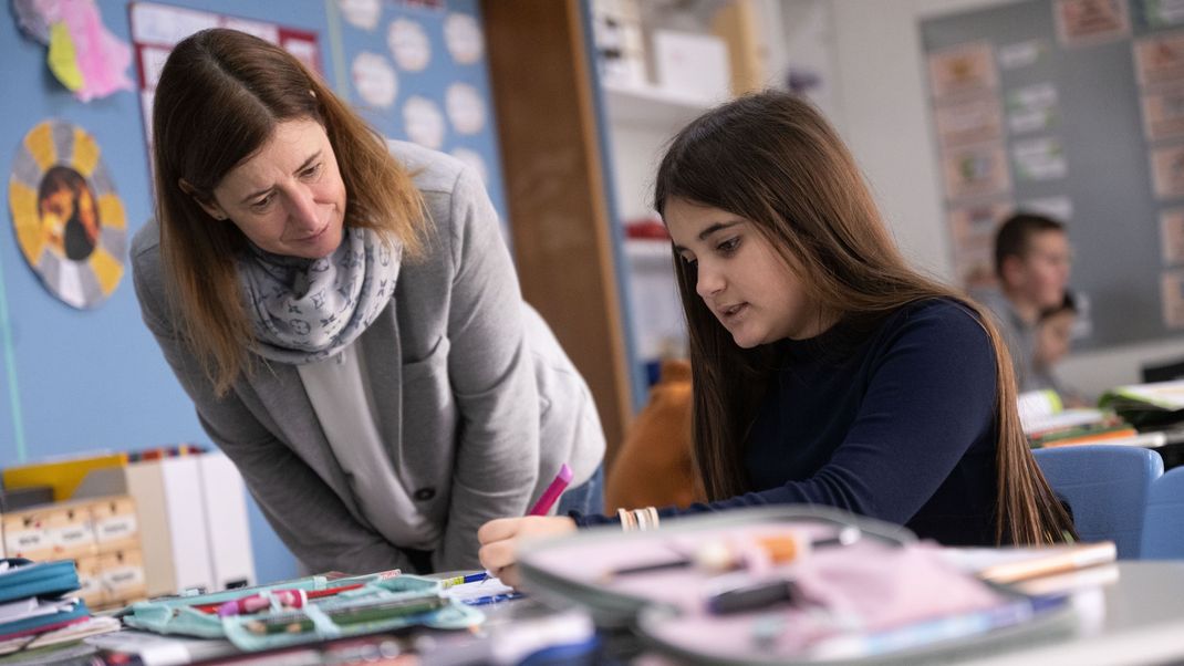
[[[477,564],[477,528],[599,510],[587,386],[523,303],[471,169],[384,142],[287,51],[176,45],[153,110],[144,322],[208,435],[313,570]]]

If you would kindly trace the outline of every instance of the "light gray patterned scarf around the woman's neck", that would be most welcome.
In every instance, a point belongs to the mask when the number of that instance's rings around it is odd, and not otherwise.
[[[253,351],[282,363],[311,363],[349,345],[394,295],[403,246],[373,229],[346,227],[322,259],[282,257],[250,245],[239,259]]]

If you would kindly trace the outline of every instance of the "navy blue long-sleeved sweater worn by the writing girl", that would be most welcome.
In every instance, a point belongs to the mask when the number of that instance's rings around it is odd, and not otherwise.
[[[744,446],[751,491],[663,517],[825,504],[948,545],[995,543],[995,353],[973,312],[927,300],[870,332],[839,323],[777,345],[780,370]]]

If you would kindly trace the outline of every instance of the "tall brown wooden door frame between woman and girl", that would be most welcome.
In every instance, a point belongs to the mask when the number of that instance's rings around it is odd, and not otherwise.
[[[515,263],[596,400],[612,460],[632,416],[596,95],[579,0],[484,0]]]

